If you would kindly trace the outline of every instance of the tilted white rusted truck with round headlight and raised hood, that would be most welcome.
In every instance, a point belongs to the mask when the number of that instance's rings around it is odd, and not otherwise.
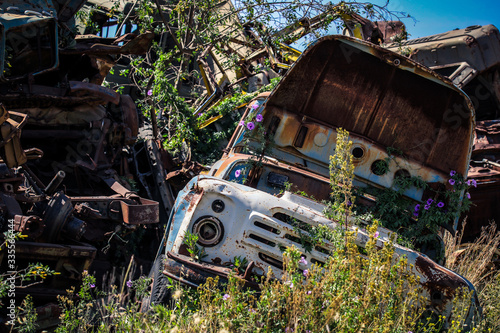
[[[207,277],[227,279],[228,265],[237,256],[249,262],[238,275],[247,286],[255,286],[252,276],[265,274],[268,267],[281,276],[284,247],[294,245],[310,263],[324,263],[331,243],[308,252],[299,238],[308,232],[304,225],[341,224],[326,218],[325,205],[317,201],[331,193],[329,158],[339,127],[350,132],[353,142],[356,187],[390,188],[398,177],[412,175],[429,189],[445,188],[450,170],[467,173],[474,110],[449,80],[407,58],[350,37],[319,39],[269,96],[248,107],[209,175],[194,178],[179,193],[159,251],[164,254],[153,266],[151,301],[167,296],[166,277],[192,287]],[[397,147],[400,154],[390,156],[387,147]],[[382,161],[386,167],[377,167]],[[308,197],[288,191],[287,184]],[[414,203],[428,195],[416,187],[404,192]],[[370,206],[377,198],[358,200]],[[443,227],[453,230],[456,221]],[[379,231],[382,246],[391,231]],[[190,259],[187,233],[198,235],[207,254],[200,262]],[[367,240],[366,232],[358,230],[357,244],[363,247]],[[424,254],[399,245],[396,252],[420,277],[427,309],[447,319],[458,288],[474,290]],[[476,296],[472,303],[469,323]]]

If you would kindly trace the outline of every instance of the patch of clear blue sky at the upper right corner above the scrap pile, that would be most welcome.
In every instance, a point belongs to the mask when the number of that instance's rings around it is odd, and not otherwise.
[[[372,2],[385,4],[384,0]],[[415,17],[416,23],[403,20],[410,39],[476,24],[493,24],[500,29],[500,0],[390,0],[388,8]]]

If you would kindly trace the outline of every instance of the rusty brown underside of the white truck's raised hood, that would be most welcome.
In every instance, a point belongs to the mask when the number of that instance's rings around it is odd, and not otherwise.
[[[474,129],[469,98],[427,67],[368,42],[339,35],[319,39],[265,109],[294,114],[302,123],[342,127],[442,174],[467,173]],[[328,164],[331,153],[315,158]]]

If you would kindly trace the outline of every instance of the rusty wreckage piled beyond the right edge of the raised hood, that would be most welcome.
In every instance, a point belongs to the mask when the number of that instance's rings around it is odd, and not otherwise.
[[[500,32],[489,25],[474,25],[444,33],[386,45],[448,77],[471,99],[476,111],[476,136],[469,176],[473,205],[462,240],[473,241],[481,229],[500,220],[498,119],[500,118]]]

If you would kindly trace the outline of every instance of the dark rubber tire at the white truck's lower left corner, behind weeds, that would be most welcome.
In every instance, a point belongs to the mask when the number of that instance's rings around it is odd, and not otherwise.
[[[151,288],[151,295],[143,299],[141,311],[147,311],[152,305],[166,305],[171,298],[171,288],[168,278],[163,274],[163,262],[165,255],[162,254],[156,258],[149,273],[149,277],[153,279],[153,287]]]

